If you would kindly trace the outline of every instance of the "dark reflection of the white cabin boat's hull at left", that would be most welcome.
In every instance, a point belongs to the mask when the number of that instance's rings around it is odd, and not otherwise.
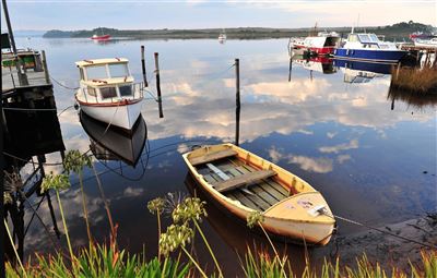
[[[83,111],[80,112],[82,128],[90,136],[90,148],[93,155],[105,161],[123,161],[135,167],[144,149],[147,128],[142,117],[135,122],[132,133],[128,134],[117,126],[108,126]]]

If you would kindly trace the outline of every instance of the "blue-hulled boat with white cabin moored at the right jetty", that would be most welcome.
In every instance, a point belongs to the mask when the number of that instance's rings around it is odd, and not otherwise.
[[[381,41],[375,34],[351,33],[345,45],[334,51],[334,58],[366,61],[398,63],[406,51],[399,50],[393,43]]]

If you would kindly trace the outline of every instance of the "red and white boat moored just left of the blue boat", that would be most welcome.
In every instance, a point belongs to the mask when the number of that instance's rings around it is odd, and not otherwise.
[[[290,52],[307,51],[314,55],[331,55],[340,43],[340,36],[335,32],[319,32],[317,36],[306,38],[292,38]]]

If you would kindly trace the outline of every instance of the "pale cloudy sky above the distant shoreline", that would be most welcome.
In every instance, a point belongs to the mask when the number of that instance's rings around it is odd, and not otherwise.
[[[3,8],[3,7],[2,7]],[[436,0],[8,0],[14,29],[437,26]],[[1,29],[4,31],[4,16]]]

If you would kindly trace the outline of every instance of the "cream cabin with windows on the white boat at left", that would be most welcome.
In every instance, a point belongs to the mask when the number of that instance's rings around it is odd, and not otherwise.
[[[85,102],[114,102],[142,97],[142,83],[134,84],[126,58],[82,60],[78,97]]]

